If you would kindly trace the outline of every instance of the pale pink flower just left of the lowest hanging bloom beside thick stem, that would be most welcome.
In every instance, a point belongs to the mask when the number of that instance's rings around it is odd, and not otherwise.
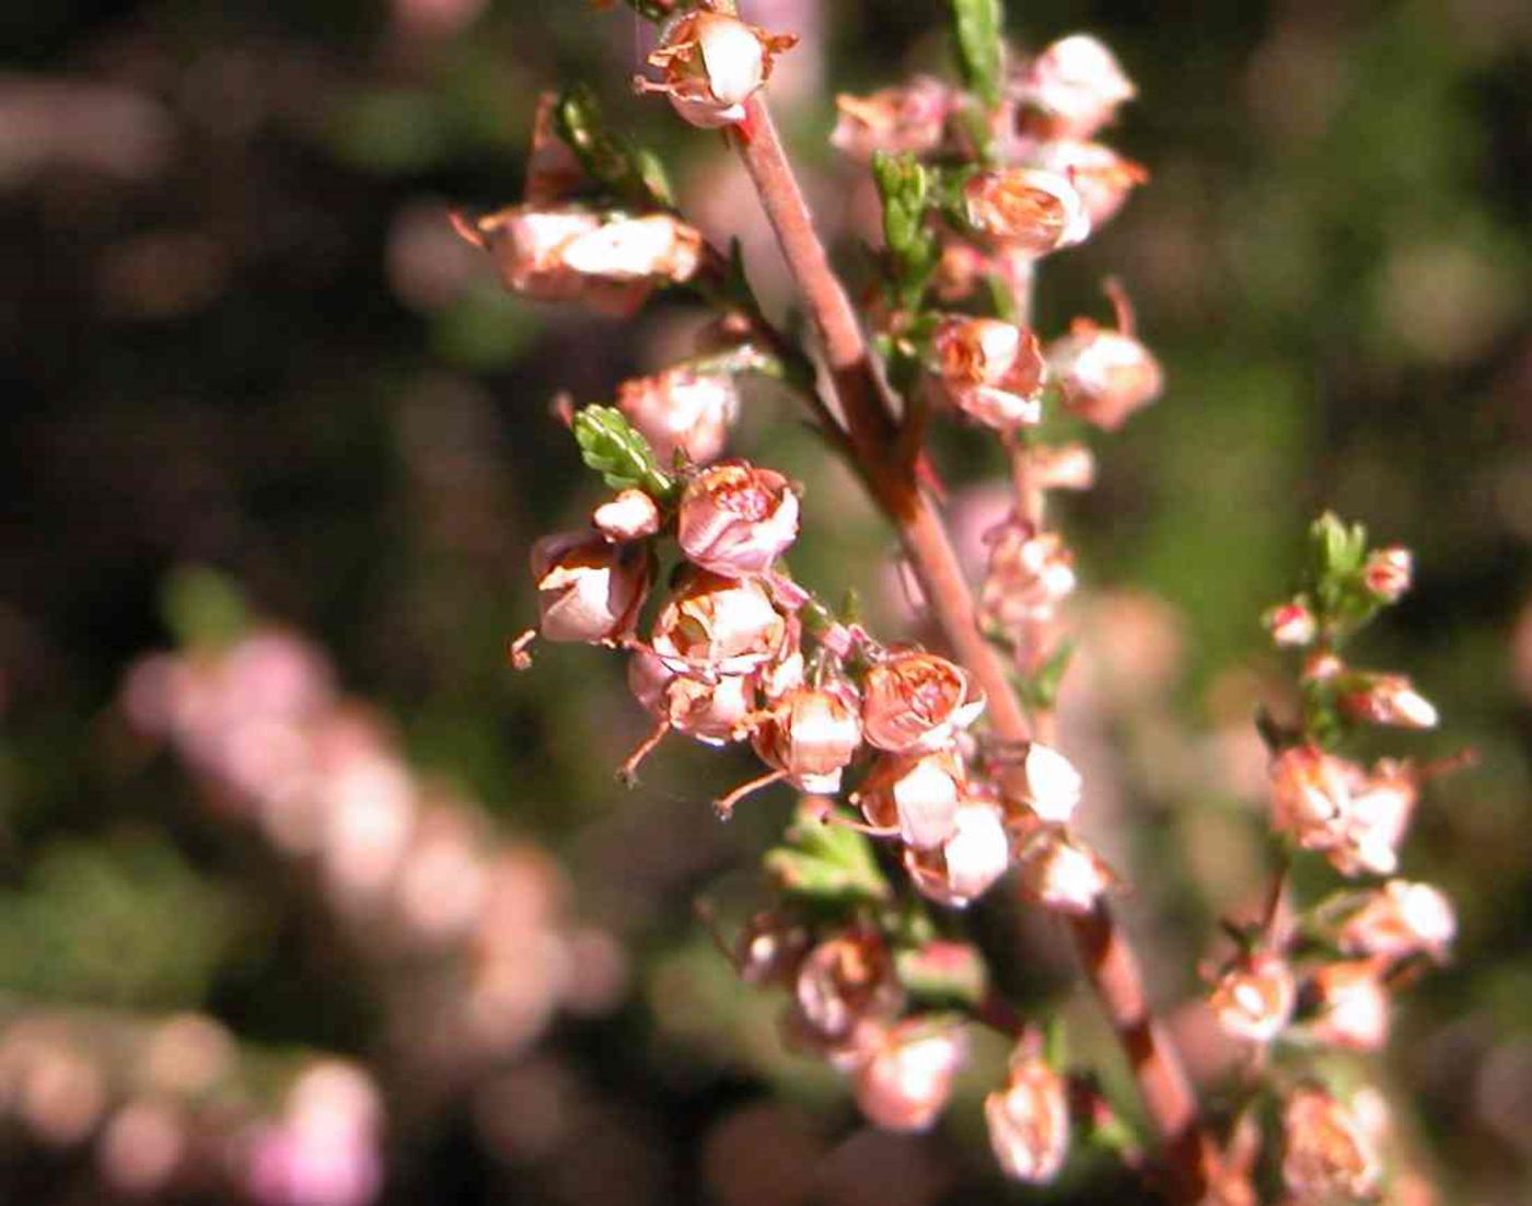
[[[852,1073],[856,1105],[889,1131],[927,1131],[947,1106],[968,1057],[961,1025],[910,1018],[884,1030]]]

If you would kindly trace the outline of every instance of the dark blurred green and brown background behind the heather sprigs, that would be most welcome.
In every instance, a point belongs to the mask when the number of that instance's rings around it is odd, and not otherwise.
[[[1524,1201],[1532,8],[1013,8],[1022,44],[1086,29],[1117,51],[1140,101],[1109,139],[1154,172],[1100,239],[1045,265],[1039,323],[1102,317],[1098,282],[1120,274],[1167,369],[1166,397],[1098,443],[1098,487],[1065,504],[1086,584],[1071,752],[1106,785],[1157,991],[1195,988],[1216,913],[1258,875],[1259,792],[1239,768],[1281,667],[1256,619],[1334,507],[1417,553],[1416,590],[1365,647],[1443,710],[1403,745],[1480,760],[1428,792],[1408,847],[1405,872],[1452,893],[1463,933],[1405,995],[1388,1076],[1443,1201]],[[947,70],[942,6],[745,11],[804,34],[774,95],[826,230],[847,236],[867,198],[824,143],[833,93]],[[746,896],[789,801],[717,826],[705,801],[749,760],[682,742],[625,794],[610,768],[645,722],[616,660],[550,647],[524,674],[504,664],[535,614],[527,547],[597,490],[550,398],[610,400],[694,316],[525,305],[446,207],[515,201],[538,92],[584,78],[709,231],[754,230],[751,270],[787,302],[722,141],[630,95],[631,14],[14,0],[0,55],[0,1034],[57,1024],[95,1059],[161,1018],[216,1021],[256,1113],[290,1062],[354,1059],[381,1085],[398,1201],[994,1200],[971,1094],[933,1137],[859,1131],[697,924],[699,892]],[[838,254],[866,273],[849,238]],[[807,483],[803,576],[896,616],[889,533],[795,418],[752,395],[735,447]],[[954,478],[999,470],[971,435],[942,441]],[[627,987],[427,1088],[417,1016],[377,987],[403,965],[369,967],[345,910],[123,717],[129,665],[173,642],[161,601],[187,564],[322,645],[412,772],[492,817],[496,841],[556,855],[561,907],[613,939]],[[80,1113],[66,1073],[37,1090],[6,1050],[0,1201],[283,1200],[213,1174],[124,1181],[101,1155],[112,1076]],[[40,1139],[38,1094],[74,1102],[78,1125]],[[285,1200],[349,1206],[343,1181]],[[1054,1197],[1105,1183],[1077,1174]]]

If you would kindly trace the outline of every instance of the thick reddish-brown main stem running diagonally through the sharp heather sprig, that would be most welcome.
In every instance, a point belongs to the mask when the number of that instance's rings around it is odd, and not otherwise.
[[[979,631],[973,593],[951,539],[930,498],[916,484],[912,466],[893,455],[898,441],[895,400],[872,365],[856,311],[830,268],[777,127],[758,95],[746,103],[746,118],[734,144],[823,343],[855,466],[898,529],[951,651],[988,697],[996,734],[1008,742],[1030,742],[1031,725],[1011,691],[1003,660]],[[1215,1163],[1213,1146],[1201,1129],[1196,1097],[1180,1053],[1149,1011],[1132,947],[1105,903],[1074,918],[1069,930],[1164,1145],[1174,1197],[1198,1201]]]

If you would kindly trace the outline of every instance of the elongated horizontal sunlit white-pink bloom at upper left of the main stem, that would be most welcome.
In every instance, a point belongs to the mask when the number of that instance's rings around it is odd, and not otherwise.
[[[599,215],[578,205],[513,205],[458,233],[495,257],[513,293],[631,314],[657,282],[691,280],[702,234],[674,215]]]

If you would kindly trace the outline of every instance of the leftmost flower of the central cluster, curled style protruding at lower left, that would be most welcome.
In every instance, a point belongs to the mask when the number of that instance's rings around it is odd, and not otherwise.
[[[532,547],[532,576],[547,641],[617,642],[633,636],[653,565],[640,546],[562,532]]]

